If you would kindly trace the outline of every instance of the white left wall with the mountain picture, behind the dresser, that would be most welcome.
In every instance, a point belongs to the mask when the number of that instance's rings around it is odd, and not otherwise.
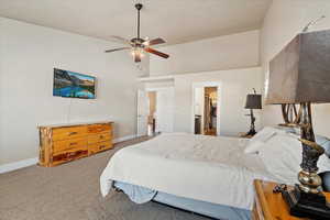
[[[135,134],[139,72],[106,41],[0,18],[0,164],[36,157],[38,124],[113,120]],[[53,97],[53,68],[97,77],[97,99]]]

